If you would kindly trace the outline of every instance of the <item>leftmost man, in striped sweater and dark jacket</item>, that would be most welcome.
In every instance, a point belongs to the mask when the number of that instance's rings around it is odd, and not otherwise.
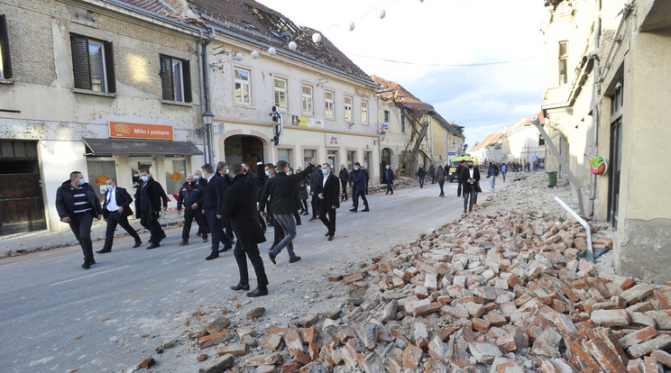
[[[81,172],[70,172],[69,180],[63,182],[56,191],[56,210],[59,212],[60,221],[69,223],[70,229],[81,245],[81,250],[84,252],[84,264],[81,268],[91,268],[91,265],[96,264],[96,260],[93,259],[91,224],[94,215],[98,220],[103,217],[103,209],[100,207],[96,191],[87,184]]]

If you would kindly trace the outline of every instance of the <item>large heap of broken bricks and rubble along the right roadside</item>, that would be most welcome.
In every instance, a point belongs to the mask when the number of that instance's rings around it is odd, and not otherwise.
[[[482,205],[506,199],[526,205],[539,190],[519,184]],[[238,371],[671,368],[670,284],[600,277],[582,258],[588,238],[579,223],[561,208],[519,205],[464,214],[363,268],[327,277],[364,291],[341,313],[306,310],[284,328],[250,322],[236,331],[192,335],[203,348],[227,343],[218,346],[220,354]],[[608,226],[591,224],[593,244],[611,248]],[[244,337],[255,334],[262,343],[247,350],[251,341]]]

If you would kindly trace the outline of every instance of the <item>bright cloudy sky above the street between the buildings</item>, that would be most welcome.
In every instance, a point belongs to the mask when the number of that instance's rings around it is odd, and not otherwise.
[[[257,1],[319,30],[367,74],[400,83],[463,125],[469,149],[543,103],[542,0]],[[512,62],[455,66],[501,61]]]

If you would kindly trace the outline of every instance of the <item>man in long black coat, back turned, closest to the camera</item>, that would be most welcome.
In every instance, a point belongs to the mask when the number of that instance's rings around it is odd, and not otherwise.
[[[242,166],[234,163],[230,166],[230,175],[233,177],[231,187],[224,196],[224,208],[220,214],[230,219],[233,232],[237,237],[233,251],[235,261],[240,271],[240,281],[233,290],[249,290],[249,273],[247,258],[252,262],[256,273],[258,287],[247,296],[267,296],[268,277],[263,268],[263,259],[259,253],[259,243],[265,241],[261,226],[256,223],[256,186],[244,177]],[[246,257],[245,257],[246,254]]]

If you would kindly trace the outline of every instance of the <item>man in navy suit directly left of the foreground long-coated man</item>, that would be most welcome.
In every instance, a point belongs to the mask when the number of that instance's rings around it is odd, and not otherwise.
[[[224,244],[222,252],[231,249],[233,245],[225,233],[222,232],[221,210],[224,207],[224,194],[226,191],[224,178],[217,176],[215,168],[209,163],[203,165],[202,169],[205,177],[207,177],[207,186],[203,195],[202,214],[205,215],[205,221],[212,233],[211,252],[206,260],[212,260],[219,258],[220,242]]]

